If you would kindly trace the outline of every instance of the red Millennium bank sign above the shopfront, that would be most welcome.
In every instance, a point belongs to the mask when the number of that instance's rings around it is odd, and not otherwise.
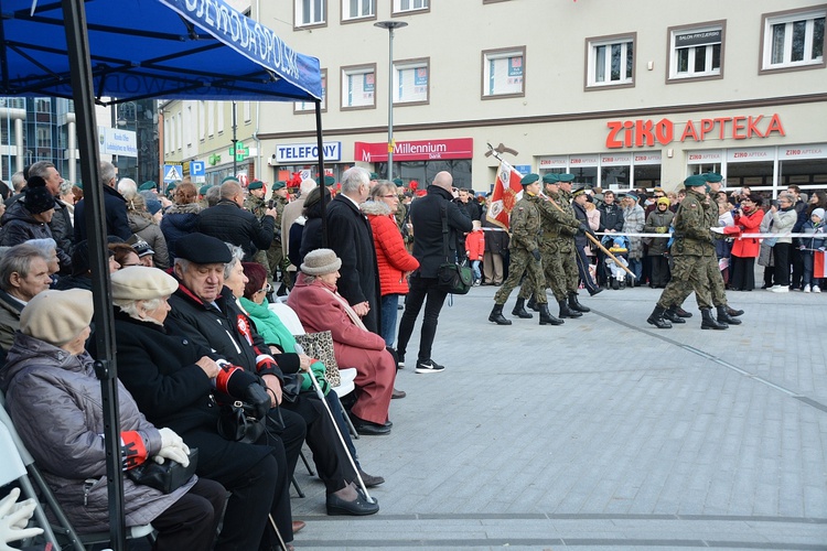
[[[432,161],[442,159],[472,159],[473,138],[453,138],[449,140],[397,141],[394,145],[394,161]],[[353,159],[364,163],[376,163],[388,160],[387,142],[354,143]]]

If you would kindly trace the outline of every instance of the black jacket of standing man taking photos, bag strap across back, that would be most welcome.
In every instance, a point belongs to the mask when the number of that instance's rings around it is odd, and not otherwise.
[[[473,225],[457,204],[450,192],[436,185],[428,186],[428,194],[410,204],[410,222],[414,225],[414,257],[419,260],[417,272],[421,278],[436,278],[439,267],[445,262],[442,246],[442,209],[448,216],[448,248],[450,260],[457,258],[457,236],[471,231]],[[464,252],[464,251],[463,251]]]

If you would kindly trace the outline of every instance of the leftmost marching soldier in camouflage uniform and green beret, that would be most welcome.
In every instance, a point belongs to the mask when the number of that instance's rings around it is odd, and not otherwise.
[[[512,240],[509,246],[511,264],[508,279],[505,280],[494,295],[494,309],[488,315],[488,321],[497,325],[511,325],[511,320],[503,316],[503,305],[508,300],[523,274],[527,274],[524,285],[529,285],[531,292],[537,296],[540,307],[540,325],[554,323],[557,320],[548,312],[546,302],[545,279],[543,277],[543,261],[539,248],[540,212],[537,207],[543,201],[539,196],[540,176],[527,174],[520,181],[523,184],[523,197],[514,205],[511,213]],[[525,312],[525,299],[517,299],[515,312]],[[530,314],[529,314],[530,316]],[[523,316],[520,316],[523,317]],[[559,320],[557,320],[559,322]]]

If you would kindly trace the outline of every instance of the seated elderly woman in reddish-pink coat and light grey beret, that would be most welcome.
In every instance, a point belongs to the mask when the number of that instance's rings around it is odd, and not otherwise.
[[[351,419],[359,434],[388,434],[388,408],[396,378],[396,361],[385,341],[365,329],[359,316],[339,293],[342,260],[331,249],[308,252],[287,303],[309,332],[330,331],[340,366],[355,367],[358,397]]]

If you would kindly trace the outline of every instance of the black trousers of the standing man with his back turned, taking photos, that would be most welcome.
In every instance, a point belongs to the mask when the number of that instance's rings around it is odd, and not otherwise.
[[[405,356],[408,349],[410,335],[414,333],[414,325],[417,323],[419,311],[425,303],[425,317],[422,318],[422,331],[419,336],[419,361],[431,359],[431,348],[433,339],[437,337],[437,323],[442,304],[445,302],[448,293],[437,289],[437,278],[422,278],[419,273],[410,277],[410,291],[405,300],[405,313],[399,322],[399,337],[396,341],[396,352]],[[426,302],[427,300],[427,302]]]

